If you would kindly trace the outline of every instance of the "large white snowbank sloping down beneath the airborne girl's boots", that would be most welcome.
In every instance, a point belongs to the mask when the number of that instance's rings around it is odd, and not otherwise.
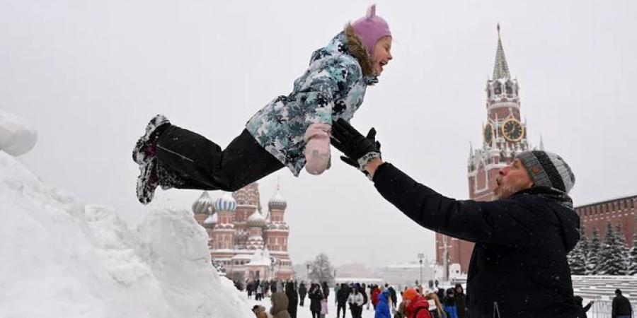
[[[0,151],[0,317],[254,317],[190,211],[129,230]]]

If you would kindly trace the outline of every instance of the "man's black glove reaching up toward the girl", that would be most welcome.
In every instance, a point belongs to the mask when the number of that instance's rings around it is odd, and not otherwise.
[[[347,156],[341,157],[341,160],[363,172],[366,172],[365,166],[372,159],[381,158],[380,143],[376,141],[376,129],[369,129],[365,137],[342,118],[332,123],[331,143]]]

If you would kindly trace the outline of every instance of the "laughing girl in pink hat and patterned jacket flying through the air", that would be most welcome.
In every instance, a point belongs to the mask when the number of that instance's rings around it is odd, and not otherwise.
[[[371,6],[316,50],[292,93],[259,110],[224,150],[157,115],[132,153],[141,171],[137,199],[148,204],[159,186],[234,192],[282,167],[295,177],[303,167],[320,175],[330,163],[332,122],[352,119],[392,59],[390,50],[389,25]]]

